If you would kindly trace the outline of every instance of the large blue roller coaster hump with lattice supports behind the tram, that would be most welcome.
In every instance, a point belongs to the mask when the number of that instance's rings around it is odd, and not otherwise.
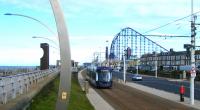
[[[110,58],[121,60],[127,48],[131,49],[131,56],[137,58],[147,53],[168,51],[166,48],[130,27],[122,29],[113,38],[110,46]]]

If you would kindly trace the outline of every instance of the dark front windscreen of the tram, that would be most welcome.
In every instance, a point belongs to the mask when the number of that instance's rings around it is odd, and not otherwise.
[[[110,71],[108,70],[102,70],[99,74],[98,74],[98,80],[99,81],[110,81]]]

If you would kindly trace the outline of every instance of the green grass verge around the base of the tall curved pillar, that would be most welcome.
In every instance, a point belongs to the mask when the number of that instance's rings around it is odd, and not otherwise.
[[[59,79],[60,78],[57,77],[45,86],[41,92],[33,98],[33,101],[27,110],[55,110]],[[85,92],[81,90],[77,74],[72,74],[68,110],[94,110],[94,107],[88,101]]]

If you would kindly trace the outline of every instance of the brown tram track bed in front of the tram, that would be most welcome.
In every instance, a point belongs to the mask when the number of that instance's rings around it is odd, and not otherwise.
[[[195,110],[115,82],[112,89],[95,90],[115,110]]]

